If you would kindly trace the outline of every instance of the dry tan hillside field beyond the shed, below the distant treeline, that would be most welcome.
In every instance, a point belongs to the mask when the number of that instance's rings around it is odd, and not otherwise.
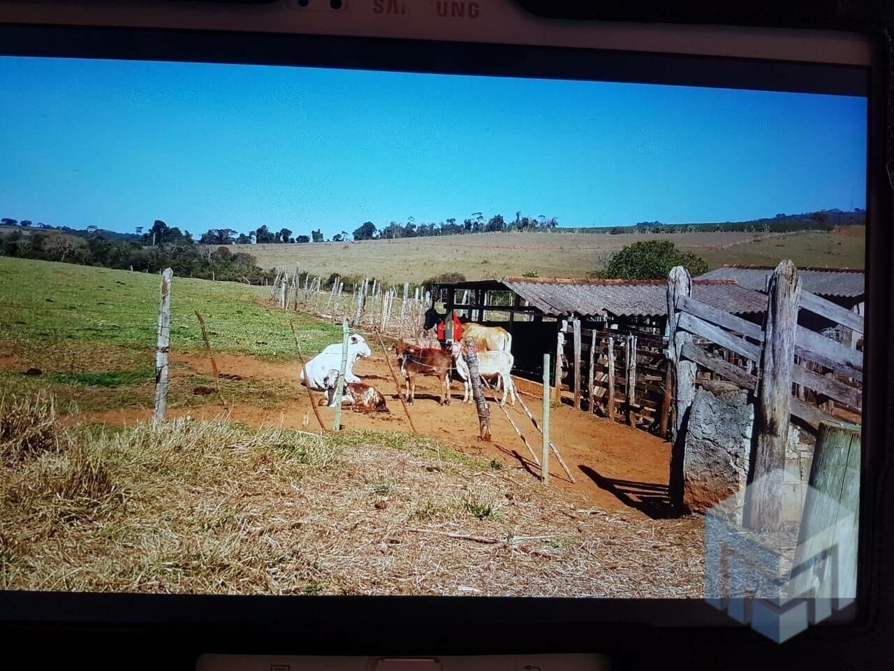
[[[322,276],[375,276],[392,282],[421,282],[459,270],[468,279],[536,272],[542,277],[580,277],[603,266],[612,252],[641,240],[668,239],[694,251],[711,268],[724,263],[863,268],[865,230],[844,234],[688,233],[557,234],[505,233],[311,244],[259,244],[249,251],[265,268],[300,264]]]

